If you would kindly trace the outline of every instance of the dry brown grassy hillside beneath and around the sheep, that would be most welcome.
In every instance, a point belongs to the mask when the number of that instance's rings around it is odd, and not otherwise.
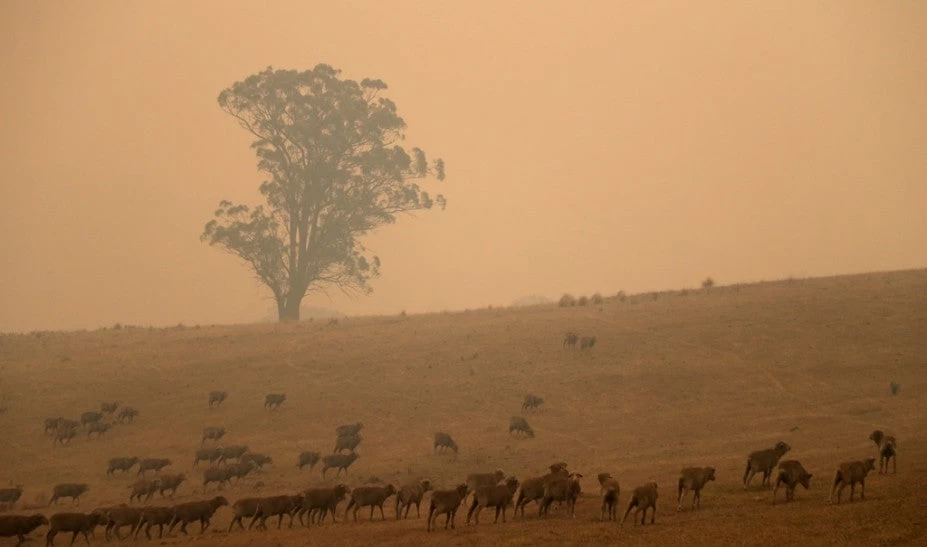
[[[568,330],[598,343],[565,349]],[[892,381],[901,386],[896,396]],[[217,389],[228,400],[207,408]],[[221,508],[202,536],[175,530],[162,543],[923,544],[925,390],[927,270],[610,297],[573,308],[3,335],[0,486],[24,485],[17,512],[45,505],[60,482],[90,485],[80,510],[128,502],[134,471],[108,478],[106,465],[135,455],[171,458],[165,472],[187,473],[175,502],[211,497],[216,487],[203,492],[192,459],[203,427],[217,425],[228,430],[221,444],[247,444],[274,459],[225,488],[230,502],[295,493],[334,482],[323,481],[319,467],[299,472],[299,452],[330,452],[335,426],[360,421],[360,458],[339,482],[427,477],[449,488],[472,472],[502,468],[523,479],[562,460],[585,476],[576,518],[555,508],[539,519],[532,504],[524,520],[510,512],[508,523],[493,524],[484,512],[479,526],[466,526],[461,510],[455,531],[429,534],[424,516],[396,522],[391,498],[386,522],[369,522],[366,510],[360,522],[342,522],[343,502],[337,524],[229,534],[231,511]],[[268,411],[264,396],[274,392],[287,400]],[[508,433],[526,393],[545,399],[525,414],[533,439]],[[69,446],[52,446],[42,432],[44,418],[76,419],[110,400],[141,415]],[[898,438],[897,474],[871,473],[865,501],[829,504],[837,464],[876,456],[868,439],[876,428]],[[432,453],[436,431],[457,440],[456,458]],[[747,453],[779,440],[814,477],[795,502],[773,506],[770,488],[754,478],[745,491],[742,476]],[[717,468],[700,510],[675,510],[684,466]],[[602,471],[621,483],[622,513],[633,487],[656,481],[656,525],[601,522],[595,475]],[[70,509],[65,502],[41,510]]]

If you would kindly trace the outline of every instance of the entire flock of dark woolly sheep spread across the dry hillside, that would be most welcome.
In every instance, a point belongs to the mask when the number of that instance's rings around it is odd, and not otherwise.
[[[581,348],[591,348],[595,344],[595,337],[579,337],[574,333],[568,333],[564,346],[575,346],[577,342],[581,343]],[[214,391],[209,394],[209,407],[221,405],[228,393],[224,391]],[[286,401],[285,394],[269,394],[265,398],[264,406],[268,409],[276,409]],[[537,409],[544,403],[544,399],[533,394],[525,396],[522,404],[522,410]],[[68,444],[71,439],[77,435],[78,429],[83,426],[86,434],[90,437],[93,433],[98,436],[103,435],[109,429],[110,424],[104,423],[105,415],[114,415],[119,408],[117,403],[104,403],[101,405],[101,411],[85,412],[79,421],[65,418],[50,418],[45,420],[45,432],[51,432],[53,435],[53,444]],[[118,421],[131,422],[139,415],[139,411],[132,407],[123,407],[116,415]],[[363,428],[362,423],[345,424],[338,426],[335,430],[336,441],[331,454],[322,456],[318,452],[303,452],[299,455],[297,467],[302,470],[309,466],[310,471],[321,462],[321,473],[323,478],[326,477],[330,469],[336,469],[336,477],[344,472],[347,474],[348,468],[359,457],[355,449],[361,442],[360,431]],[[528,425],[524,417],[513,416],[509,423],[509,433],[516,435],[534,436],[534,431]],[[203,430],[200,442],[200,448],[196,451],[193,459],[193,468],[195,469],[199,462],[206,461],[210,465],[203,471],[203,492],[211,483],[216,483],[219,488],[223,485],[231,484],[231,480],[236,481],[258,471],[264,465],[272,464],[273,459],[267,455],[252,452],[247,446],[232,445],[225,447],[204,447],[207,441],[219,441],[225,435],[223,427],[207,427]],[[892,472],[896,466],[897,441],[895,437],[885,435],[882,431],[873,431],[869,437],[878,448],[879,472],[888,473],[889,464],[892,465]],[[457,443],[445,432],[438,432],[434,435],[433,451],[450,450],[455,454],[458,452]],[[774,447],[758,450],[749,454],[747,466],[744,471],[743,484],[747,487],[755,474],[762,473],[762,484],[768,486],[775,469],[778,469],[778,475],[773,488],[773,503],[776,503],[776,496],[780,486],[785,486],[785,499],[791,501],[795,496],[795,489],[798,485],[804,488],[809,487],[811,474],[802,466],[798,460],[784,460],[785,456],[791,450],[791,447],[785,442],[778,442]],[[345,453],[347,452],[347,453]],[[234,462],[233,462],[234,461]],[[850,487],[850,500],[852,501],[856,493],[856,485],[860,486],[860,497],[865,497],[865,481],[869,471],[875,469],[876,458],[867,458],[859,461],[841,463],[835,473],[833,486],[831,489],[831,499],[836,494],[836,501],[840,503],[841,496],[846,486]],[[138,479],[134,484],[129,486],[129,504],[120,504],[113,507],[97,508],[87,513],[79,512],[61,512],[56,513],[50,518],[41,514],[34,515],[0,515],[0,537],[18,537],[19,543],[25,541],[26,536],[41,526],[48,526],[46,534],[46,545],[53,545],[54,538],[59,533],[72,534],[71,542],[83,535],[88,543],[93,531],[99,527],[104,527],[105,537],[109,539],[115,535],[118,539],[124,539],[122,529],[128,527],[129,536],[137,538],[144,531],[148,539],[152,539],[151,529],[158,527],[158,537],[163,537],[164,528],[167,527],[168,533],[171,533],[175,527],[179,526],[180,531],[187,534],[187,525],[191,523],[200,523],[200,532],[205,532],[210,525],[210,520],[215,512],[223,507],[228,506],[228,500],[221,495],[211,499],[180,503],[172,506],[135,506],[133,502],[148,503],[155,493],[160,493],[165,498],[165,493],[169,492],[169,497],[173,498],[177,488],[187,481],[185,473],[179,474],[162,474],[161,471],[173,462],[167,458],[147,458],[139,459],[137,457],[117,457],[109,461],[107,475],[114,477],[116,472],[126,473],[133,468],[136,469]],[[137,468],[136,468],[137,466]],[[551,505],[557,502],[558,505],[566,504],[566,510],[571,515],[575,515],[576,500],[582,492],[580,479],[582,475],[570,472],[567,464],[558,462],[550,466],[549,473],[519,480],[515,476],[507,476],[501,469],[490,473],[474,473],[468,475],[465,482],[460,483],[452,489],[434,489],[429,480],[412,481],[408,484],[400,485],[398,488],[393,484],[385,486],[358,486],[349,488],[345,484],[337,484],[324,488],[309,488],[291,495],[265,496],[265,497],[245,497],[238,499],[231,505],[232,521],[229,524],[228,531],[238,525],[244,529],[244,519],[250,519],[248,529],[257,524],[259,529],[266,529],[266,521],[269,518],[277,517],[277,528],[280,528],[284,517],[288,517],[289,525],[293,526],[294,519],[299,520],[301,524],[321,524],[327,515],[331,515],[332,520],[336,520],[338,505],[345,499],[348,500],[347,506],[343,512],[343,518],[348,519],[351,515],[353,520],[357,520],[357,513],[363,508],[370,508],[369,518],[374,518],[375,509],[379,509],[382,519],[386,519],[384,514],[384,504],[388,499],[394,498],[395,518],[408,518],[412,505],[415,505],[416,515],[420,516],[420,505],[426,494],[430,492],[427,514],[428,531],[436,527],[437,519],[441,515],[445,516],[444,528],[455,527],[455,517],[460,507],[467,508],[467,524],[471,520],[479,524],[480,514],[483,509],[495,509],[495,521],[502,516],[502,521],[506,522],[506,511],[509,507],[513,508],[513,513],[524,517],[525,506],[530,502],[535,502],[538,506],[538,515],[546,516]],[[153,472],[156,478],[149,479],[145,475]],[[617,507],[619,495],[621,492],[618,481],[609,473],[599,473],[597,475],[600,486],[601,497],[601,514],[602,520],[617,521]],[[692,492],[692,508],[701,505],[701,491],[705,485],[715,480],[715,468],[713,467],[689,467],[682,470],[678,483],[676,485],[677,493],[677,510],[682,507],[682,500],[689,491]],[[49,505],[58,503],[60,499],[70,498],[74,505],[79,504],[81,495],[89,490],[87,484],[66,483],[58,484],[52,490],[52,496]],[[15,488],[0,489],[0,507],[13,507],[20,499],[23,493],[22,486]],[[656,519],[658,488],[654,482],[647,483],[635,488],[630,495],[627,509],[621,518],[621,524],[625,522],[632,511],[635,512],[634,522],[637,523],[637,516],[640,515],[641,524],[646,524],[648,511],[650,512],[650,522]],[[467,501],[469,500],[469,502]],[[404,512],[403,512],[404,511]]]

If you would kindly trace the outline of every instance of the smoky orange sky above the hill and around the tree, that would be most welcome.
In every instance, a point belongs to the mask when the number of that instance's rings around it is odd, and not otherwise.
[[[267,4],[0,4],[0,331],[272,313],[199,241],[258,200],[216,96],[268,65],[383,79],[447,162],[445,212],[365,240],[374,294],[307,305],[927,266],[927,2]]]

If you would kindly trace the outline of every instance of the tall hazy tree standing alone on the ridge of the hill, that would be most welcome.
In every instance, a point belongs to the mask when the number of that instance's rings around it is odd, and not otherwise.
[[[444,180],[444,162],[406,151],[405,121],[386,84],[312,70],[266,70],[219,94],[253,137],[264,203],[221,201],[201,239],[241,258],[273,293],[280,320],[299,319],[311,290],[370,292],[380,259],[359,238],[399,213],[444,209],[418,182]]]

